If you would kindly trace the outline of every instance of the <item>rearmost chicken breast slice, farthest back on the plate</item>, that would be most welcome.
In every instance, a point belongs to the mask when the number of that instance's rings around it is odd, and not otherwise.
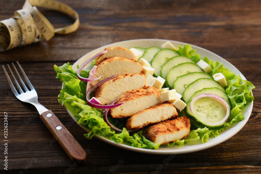
[[[108,52],[100,55],[95,62],[95,65],[99,65],[102,61],[110,57],[124,57],[124,58],[131,58],[135,60],[135,56],[131,50],[122,47],[109,47],[105,48]]]

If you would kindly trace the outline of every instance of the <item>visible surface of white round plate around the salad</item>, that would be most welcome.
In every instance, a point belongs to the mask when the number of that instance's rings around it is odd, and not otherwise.
[[[127,41],[121,41],[109,45],[105,45],[103,47],[100,47],[96,50],[93,50],[86,55],[82,56],[78,61],[76,61],[72,66],[73,69],[77,70],[76,66],[79,64],[81,65],[87,59],[91,58],[92,56],[96,55],[100,51],[103,51],[104,48],[106,47],[111,47],[111,46],[119,46],[119,47],[124,47],[127,49],[130,49],[132,47],[152,47],[152,46],[157,46],[161,47],[162,44],[164,44],[166,41],[170,41],[174,46],[182,46],[187,43],[179,42],[179,41],[172,41],[172,40],[164,40],[164,39],[135,39],[135,40],[127,40]],[[193,45],[192,45],[193,46]],[[222,62],[224,67],[227,67],[231,72],[235,73],[236,75],[239,74],[243,80],[246,80],[246,78],[243,76],[243,74],[236,68],[234,65],[223,59],[222,57],[216,55],[215,53],[208,51],[204,48],[198,47],[198,46],[193,46],[193,49],[197,50],[196,53],[200,55],[200,57],[208,57],[209,59],[212,59],[213,61],[219,61]],[[90,67],[89,67],[90,68]],[[235,122],[231,126],[228,126],[226,130],[220,132],[220,134],[217,137],[210,137],[209,140],[206,143],[202,143],[201,140],[191,142],[188,144],[184,144],[183,146],[179,145],[174,145],[171,147],[168,147],[167,145],[161,146],[156,150],[151,150],[151,149],[143,149],[143,148],[136,148],[124,144],[118,144],[115,143],[114,141],[111,141],[105,137],[99,136],[99,135],[94,135],[98,139],[109,143],[113,146],[120,147],[123,149],[127,149],[130,151],[135,151],[135,152],[141,152],[141,153],[149,153],[149,154],[182,154],[182,153],[190,153],[190,152],[196,152],[200,151],[203,149],[207,149],[213,146],[216,146],[232,136],[234,136],[236,133],[238,133],[242,127],[246,124],[247,120],[249,119],[251,112],[253,108],[253,101],[248,104],[243,110],[242,110],[242,115],[245,116],[244,120]],[[73,113],[69,111],[66,107],[66,110],[68,111],[69,115],[74,119],[74,121],[77,123],[76,119],[73,116]],[[79,124],[80,125],[80,124]],[[87,130],[84,128],[82,125],[80,125],[84,130],[89,132],[90,130]]]

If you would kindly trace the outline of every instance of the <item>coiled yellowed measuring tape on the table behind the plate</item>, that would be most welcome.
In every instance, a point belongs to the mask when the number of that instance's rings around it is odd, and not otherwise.
[[[0,51],[29,45],[44,39],[48,41],[55,33],[68,34],[76,31],[80,25],[78,13],[60,1],[26,0],[23,8],[15,11],[13,17],[0,21]],[[76,20],[72,25],[54,28],[36,6],[60,11]]]

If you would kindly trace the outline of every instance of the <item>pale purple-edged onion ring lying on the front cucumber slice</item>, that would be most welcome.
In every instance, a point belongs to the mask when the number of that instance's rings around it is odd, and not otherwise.
[[[214,99],[217,99],[219,100],[227,109],[227,113],[226,113],[226,116],[219,122],[216,122],[216,123],[208,123],[208,125],[210,126],[216,126],[216,125],[221,125],[223,123],[225,123],[227,120],[228,120],[228,117],[229,117],[229,113],[230,113],[230,108],[229,108],[229,105],[228,103],[226,102],[226,100],[224,100],[222,97],[219,97],[218,95],[215,95],[215,94],[210,94],[210,93],[207,93],[207,94],[199,94],[197,95],[196,97],[194,97],[192,100],[191,100],[191,103],[190,103],[190,110],[193,114],[195,114],[195,110],[194,110],[194,103],[195,101],[197,101],[198,99],[200,98],[204,98],[204,97],[211,97],[211,98],[214,98]]]

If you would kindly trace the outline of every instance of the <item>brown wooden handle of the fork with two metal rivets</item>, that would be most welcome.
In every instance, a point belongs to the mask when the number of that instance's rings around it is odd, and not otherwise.
[[[64,127],[60,120],[49,110],[40,115],[41,119],[56,138],[70,159],[77,164],[84,165],[87,162],[86,151],[74,139],[72,134]]]

